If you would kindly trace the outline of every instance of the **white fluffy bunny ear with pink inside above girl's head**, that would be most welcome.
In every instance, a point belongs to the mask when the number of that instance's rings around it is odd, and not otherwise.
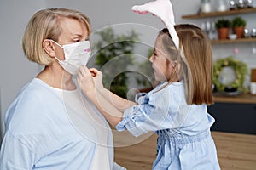
[[[166,25],[176,48],[179,49],[179,38],[177,37],[177,32],[174,28],[174,14],[170,0],[156,0],[143,5],[135,5],[131,9],[137,14],[151,13],[158,16]]]

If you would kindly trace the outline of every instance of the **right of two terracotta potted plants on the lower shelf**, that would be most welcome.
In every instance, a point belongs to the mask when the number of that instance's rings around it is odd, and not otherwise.
[[[243,37],[243,33],[246,25],[247,25],[246,20],[243,20],[240,16],[237,16],[231,21],[233,33],[236,34],[237,38]]]

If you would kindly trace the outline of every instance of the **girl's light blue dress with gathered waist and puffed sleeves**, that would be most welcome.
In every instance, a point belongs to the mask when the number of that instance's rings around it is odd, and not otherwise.
[[[188,105],[183,82],[163,86],[166,82],[148,94],[137,94],[138,105],[125,110],[116,128],[134,136],[158,134],[154,170],[220,169],[210,133],[214,119],[207,105]]]

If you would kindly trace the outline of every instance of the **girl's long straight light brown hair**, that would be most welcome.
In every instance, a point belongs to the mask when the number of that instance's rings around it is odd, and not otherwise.
[[[189,24],[175,26],[179,37],[179,51],[172,42],[167,29],[159,35],[166,34],[168,38],[161,38],[168,57],[177,61],[177,77],[183,79],[186,99],[189,105],[212,104],[212,46],[204,31]],[[169,81],[172,82],[172,81]]]

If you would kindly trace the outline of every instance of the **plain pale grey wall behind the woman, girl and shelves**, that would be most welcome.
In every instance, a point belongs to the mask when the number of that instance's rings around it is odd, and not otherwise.
[[[21,37],[26,27],[26,23],[38,9],[63,7],[73,8],[82,11],[88,15],[91,20],[93,31],[105,26],[113,26],[122,32],[131,27],[140,33],[141,41],[153,46],[157,31],[163,24],[151,14],[139,15],[131,12],[131,6],[137,3],[146,3],[147,0],[4,0],[0,5],[1,20],[1,62],[0,62],[0,123],[3,133],[3,116],[10,103],[15,99],[20,88],[32,77],[38,74],[40,67],[27,61],[21,48]],[[193,23],[201,26],[201,20],[183,20],[183,14],[195,14],[199,8],[200,0],[172,0],[176,23]],[[255,3],[255,2],[254,2]],[[255,6],[255,4],[254,4]],[[249,29],[256,27],[254,14],[242,14],[247,19]],[[216,19],[213,19],[216,20]],[[127,24],[130,23],[130,24]],[[134,23],[134,24],[132,24]],[[140,24],[140,25],[137,25]],[[92,34],[93,37],[93,34]],[[256,67],[256,56],[252,53],[252,48],[256,46],[251,44],[230,44],[214,45],[214,58],[226,57],[233,54],[234,48],[239,49],[238,59],[245,60],[249,67]],[[255,47],[256,48],[256,47]],[[0,135],[1,136],[1,135]]]

